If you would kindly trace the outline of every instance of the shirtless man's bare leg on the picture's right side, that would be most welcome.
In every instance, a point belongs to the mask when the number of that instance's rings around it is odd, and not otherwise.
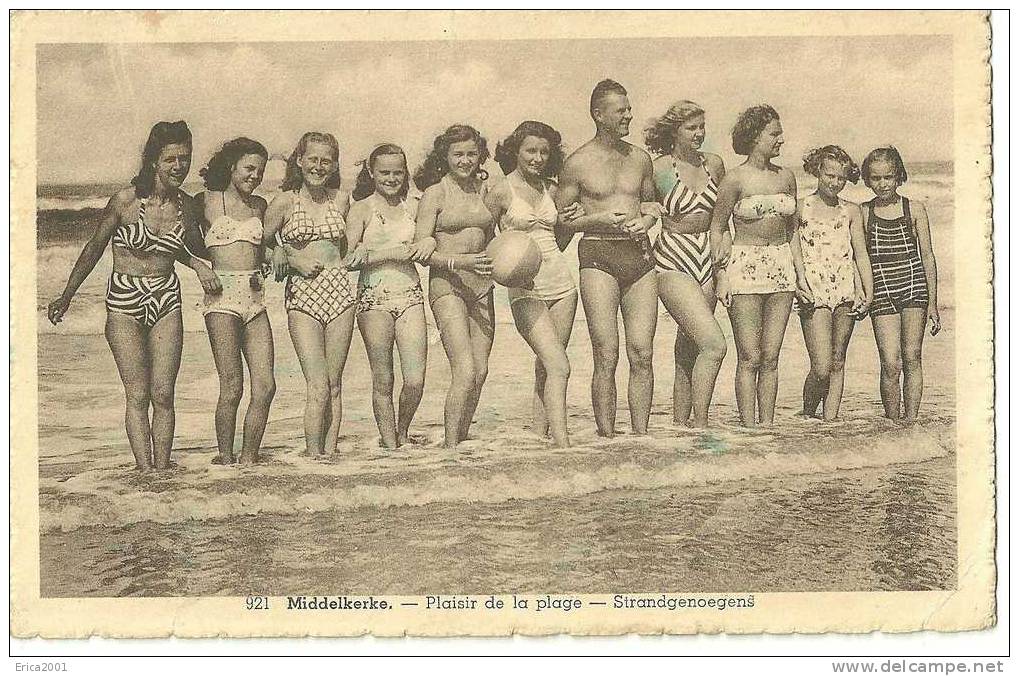
[[[654,397],[654,329],[658,323],[658,278],[648,272],[623,291],[623,332],[630,362],[627,403],[630,426],[636,434],[647,434]]]

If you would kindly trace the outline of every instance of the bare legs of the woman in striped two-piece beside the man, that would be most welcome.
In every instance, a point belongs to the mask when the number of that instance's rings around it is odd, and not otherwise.
[[[674,386],[674,401],[677,402],[677,406],[681,403],[683,405],[683,410],[674,410],[674,420],[681,424],[686,423],[692,408],[693,424],[703,427],[707,425],[708,407],[711,404],[711,395],[714,393],[718,369],[721,368],[721,361],[726,358],[726,337],[714,319],[711,307],[713,302],[709,305],[703,289],[690,275],[683,272],[659,273],[658,296],[678,325],[677,377],[681,372],[679,348],[681,337],[684,349],[693,357],[693,363],[688,371],[690,379],[684,383],[685,401],[677,398],[679,387]],[[686,368],[683,367],[684,370]]]

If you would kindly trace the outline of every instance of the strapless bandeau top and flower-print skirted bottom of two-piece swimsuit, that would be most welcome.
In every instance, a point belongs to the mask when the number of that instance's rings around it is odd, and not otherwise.
[[[754,221],[766,216],[792,216],[796,198],[786,193],[751,195],[736,203],[737,220]],[[796,268],[788,242],[777,245],[733,245],[726,266],[734,294],[777,294],[796,291]]]

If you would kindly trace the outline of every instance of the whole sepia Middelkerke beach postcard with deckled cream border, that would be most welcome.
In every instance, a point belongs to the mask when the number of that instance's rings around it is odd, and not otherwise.
[[[15,12],[11,633],[994,625],[989,49]]]

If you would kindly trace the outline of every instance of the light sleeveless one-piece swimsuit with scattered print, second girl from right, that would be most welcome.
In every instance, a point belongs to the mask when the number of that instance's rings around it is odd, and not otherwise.
[[[809,308],[835,310],[844,303],[852,303],[856,296],[856,263],[850,239],[850,211],[846,202],[839,200],[835,212],[813,206],[805,201],[800,216],[800,252],[803,272],[813,304],[798,305],[801,311]]]

